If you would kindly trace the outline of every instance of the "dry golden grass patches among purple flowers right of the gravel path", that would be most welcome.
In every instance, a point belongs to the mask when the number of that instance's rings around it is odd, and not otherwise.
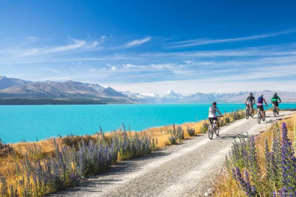
[[[288,137],[293,141],[295,141],[295,123],[296,123],[296,113],[293,115],[289,115],[285,120],[278,122],[281,125],[283,122],[287,123],[287,128],[289,130]],[[265,139],[268,140],[268,146],[271,146],[272,140],[272,127],[270,127],[267,131],[261,133],[255,138],[256,147],[258,150],[259,156],[259,165],[263,176],[265,175]],[[218,180],[216,181],[218,184],[216,185],[216,192],[214,194],[215,197],[246,197],[245,193],[236,185],[233,180],[231,174],[222,174]]]

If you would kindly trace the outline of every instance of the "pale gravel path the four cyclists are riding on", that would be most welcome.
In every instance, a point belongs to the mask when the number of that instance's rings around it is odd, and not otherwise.
[[[222,170],[231,142],[241,133],[258,134],[279,117],[267,113],[266,121],[241,119],[220,128],[220,136],[201,135],[149,154],[116,164],[100,176],[90,177],[51,197],[191,197],[204,196]]]

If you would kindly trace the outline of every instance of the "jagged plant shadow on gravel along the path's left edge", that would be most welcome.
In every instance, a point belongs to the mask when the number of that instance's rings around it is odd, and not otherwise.
[[[112,176],[118,174],[127,174],[137,171],[142,168],[145,161],[153,158],[164,157],[170,155],[171,152],[156,151],[149,153],[145,157],[138,157],[128,161],[123,161],[118,164],[112,165],[106,172],[103,172],[97,176],[88,177],[86,180],[81,181],[79,185],[75,188],[67,188],[64,191],[57,192],[48,197],[70,197],[72,193],[76,192],[93,192],[101,193],[104,190],[104,185],[114,185],[120,184],[120,179],[112,178]],[[93,188],[98,188],[98,190],[93,190]],[[100,189],[99,189],[100,188]]]

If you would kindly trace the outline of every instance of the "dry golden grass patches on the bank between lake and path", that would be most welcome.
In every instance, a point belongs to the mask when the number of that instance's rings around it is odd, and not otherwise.
[[[236,112],[235,115],[237,115],[237,113],[243,114],[244,111]],[[225,121],[226,119],[227,121]],[[226,124],[226,122],[227,123],[233,122],[234,120],[235,120],[234,113],[224,114],[224,118],[222,119],[223,124]],[[202,132],[201,128],[203,128],[204,123],[208,123],[208,121],[203,120],[199,122],[190,122],[190,123],[185,123],[181,125],[175,125],[175,127],[177,128],[177,126],[181,126],[183,128],[185,139],[186,139],[190,137],[186,131],[187,127],[193,128],[195,130],[195,134],[197,135]],[[169,140],[169,137],[172,135],[172,133],[168,132],[169,130],[173,130],[173,125],[169,125],[166,127],[149,128],[141,132],[145,132],[151,139],[154,139],[154,142],[156,142],[156,138],[157,138],[156,149],[159,149],[172,144]],[[131,131],[130,133],[131,135],[134,135],[135,131]],[[105,136],[107,138],[110,135],[111,133],[105,133]],[[89,137],[96,140],[98,135],[95,134]],[[65,146],[62,138],[55,138],[55,140],[60,148]],[[14,180],[16,177],[15,160],[17,162],[24,161],[24,157],[26,154],[28,154],[29,152],[32,154],[32,151],[28,151],[29,149],[34,150],[36,147],[38,149],[38,151],[33,151],[33,152],[36,152],[35,155],[28,155],[29,160],[34,160],[36,158],[42,159],[42,158],[46,158],[47,156],[50,156],[50,157],[54,156],[54,146],[52,141],[53,141],[53,138],[49,138],[49,139],[40,140],[37,142],[19,142],[19,143],[11,144],[11,146],[14,148],[16,152],[16,157],[14,158],[14,156],[8,156],[5,158],[0,158],[0,174],[4,176],[8,182]],[[121,158],[118,158],[117,161],[120,162],[121,160],[122,160]]]

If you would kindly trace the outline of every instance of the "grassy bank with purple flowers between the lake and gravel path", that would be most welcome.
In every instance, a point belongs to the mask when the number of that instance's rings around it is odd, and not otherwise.
[[[221,125],[244,117],[227,113]],[[104,172],[116,162],[145,156],[153,150],[204,133],[208,121],[170,125],[134,132],[124,125],[117,131],[95,135],[51,138],[3,145],[0,158],[0,197],[37,197],[75,187],[90,175]]]

